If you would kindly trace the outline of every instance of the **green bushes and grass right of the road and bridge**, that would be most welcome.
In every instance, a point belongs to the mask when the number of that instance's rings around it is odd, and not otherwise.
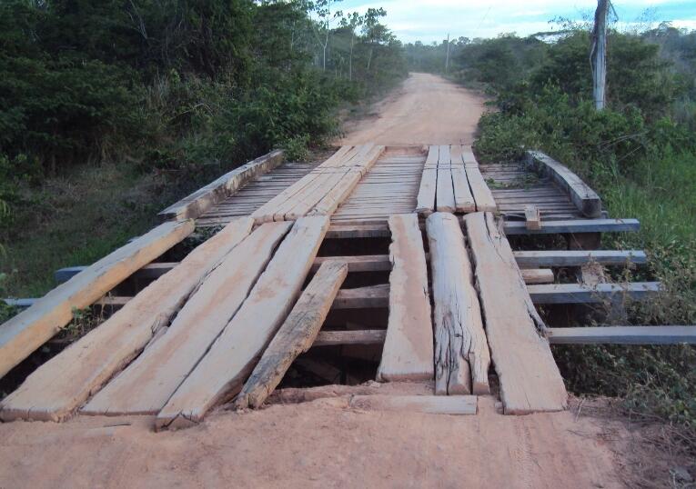
[[[696,324],[696,32],[669,23],[611,30],[608,105],[597,111],[591,28],[561,20],[552,34],[460,37],[449,43],[447,67],[446,42],[405,51],[409,69],[490,96],[496,110],[481,118],[475,144],[482,162],[541,149],[595,188],[610,216],[640,219],[640,233],[604,243],[649,254],[647,272],[614,280],[656,279],[667,289],[631,304],[631,324]],[[573,393],[619,396],[631,414],[696,429],[693,347],[554,346],[554,356]]]

